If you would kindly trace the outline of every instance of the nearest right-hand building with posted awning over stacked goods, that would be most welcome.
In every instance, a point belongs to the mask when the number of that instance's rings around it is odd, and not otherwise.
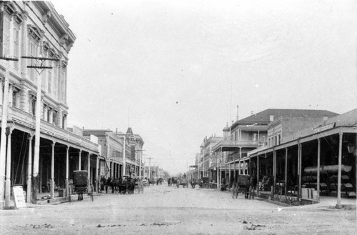
[[[281,116],[271,122],[270,144],[248,153],[259,181],[272,179],[271,187],[261,182],[259,194],[315,200],[336,196],[337,206],[342,196],[356,197],[356,116],[357,109],[338,116],[321,111],[313,117]],[[316,194],[311,196],[309,190]]]

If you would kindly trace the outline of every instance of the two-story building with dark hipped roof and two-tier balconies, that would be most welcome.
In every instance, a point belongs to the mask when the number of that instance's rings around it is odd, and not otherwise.
[[[276,119],[298,120],[308,118],[311,121],[336,116],[331,111],[308,109],[266,109],[257,114],[235,121],[223,129],[224,139],[213,146],[213,151],[221,162],[218,180],[234,181],[236,174],[249,174],[248,152],[261,146],[273,145],[281,141],[281,126],[276,126],[268,133],[269,124],[275,125]],[[301,124],[303,125],[303,124]],[[288,125],[285,126],[288,129]],[[291,130],[293,131],[293,130]],[[227,180],[228,179],[228,180]],[[221,181],[218,182],[221,184]]]

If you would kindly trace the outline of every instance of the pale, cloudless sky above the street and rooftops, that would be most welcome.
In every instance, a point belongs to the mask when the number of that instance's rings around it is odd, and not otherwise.
[[[357,108],[353,0],[52,3],[76,35],[69,126],[130,126],[171,174],[237,116]]]

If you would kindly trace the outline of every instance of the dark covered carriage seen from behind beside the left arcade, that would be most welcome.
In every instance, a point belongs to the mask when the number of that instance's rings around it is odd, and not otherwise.
[[[94,201],[93,186],[89,184],[88,172],[74,171],[73,175],[74,192],[78,194],[78,201],[83,200],[83,194],[89,194],[91,196],[91,201]]]

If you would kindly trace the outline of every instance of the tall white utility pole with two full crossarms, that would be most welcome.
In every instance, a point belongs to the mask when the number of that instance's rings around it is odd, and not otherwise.
[[[44,69],[53,69],[51,66],[44,66],[44,61],[59,61],[59,59],[51,59],[34,56],[21,56],[24,59],[36,59],[37,62],[41,61],[38,66],[27,66],[27,68],[35,69],[40,75]],[[39,70],[37,70],[39,69]],[[37,193],[39,192],[39,154],[40,154],[40,125],[41,125],[41,76],[37,77],[37,92],[36,92],[36,122],[35,122],[35,148],[34,148],[34,172],[32,174],[32,202],[36,203]]]

